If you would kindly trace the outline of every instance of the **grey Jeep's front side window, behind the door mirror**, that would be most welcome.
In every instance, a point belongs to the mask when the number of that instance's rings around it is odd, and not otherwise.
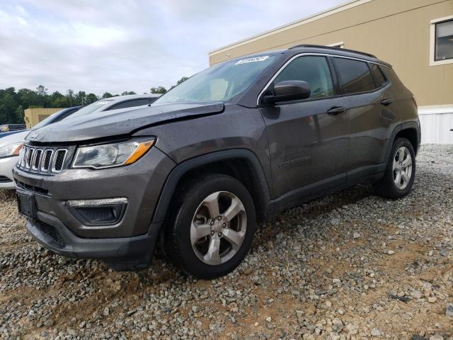
[[[333,96],[333,82],[326,57],[299,57],[288,64],[275,78],[274,84],[280,81],[306,81],[311,89],[310,98]]]

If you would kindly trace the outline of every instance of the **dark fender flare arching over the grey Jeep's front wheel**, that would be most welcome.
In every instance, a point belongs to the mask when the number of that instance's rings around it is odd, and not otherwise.
[[[164,222],[166,213],[171,204],[173,193],[176,191],[178,181],[184,176],[184,174],[199,166],[230,159],[243,159],[249,166],[251,166],[251,170],[254,175],[254,178],[252,178],[253,186],[258,193],[258,204],[260,205],[260,208],[262,208],[261,210],[264,214],[269,207],[270,191],[268,181],[265,178],[263,167],[258,161],[258,157],[256,157],[256,155],[248,149],[228,149],[219,152],[212,152],[210,154],[203,154],[176,165],[168,175],[164,188],[162,188],[151,224],[154,225]]]

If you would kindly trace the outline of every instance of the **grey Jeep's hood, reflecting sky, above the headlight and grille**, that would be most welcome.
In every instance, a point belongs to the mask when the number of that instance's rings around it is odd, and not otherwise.
[[[30,132],[32,142],[79,142],[132,132],[171,120],[222,113],[224,103],[168,103],[95,112],[67,118]]]

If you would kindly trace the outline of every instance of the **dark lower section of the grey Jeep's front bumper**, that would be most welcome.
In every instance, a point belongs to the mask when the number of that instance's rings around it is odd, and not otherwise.
[[[101,259],[116,269],[142,269],[151,263],[160,225],[147,234],[110,239],[84,239],[69,231],[56,217],[38,212],[38,220],[26,223],[31,236],[45,248],[62,256]]]

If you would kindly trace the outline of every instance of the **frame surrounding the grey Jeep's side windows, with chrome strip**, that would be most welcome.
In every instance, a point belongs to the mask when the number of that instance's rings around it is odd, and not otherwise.
[[[384,84],[384,86],[381,86],[377,89],[373,89],[372,91],[366,91],[366,92],[357,92],[355,94],[343,94],[341,91],[341,88],[340,88],[340,82],[338,81],[338,72],[336,70],[336,67],[335,65],[333,64],[333,58],[343,58],[343,59],[350,59],[350,60],[357,60],[359,62],[365,62],[368,64],[377,64],[377,66],[380,68],[380,67],[386,67],[386,68],[389,68],[387,67],[386,65],[382,64],[382,63],[379,63],[379,62],[372,62],[370,60],[365,60],[365,59],[360,59],[360,58],[355,58],[355,57],[346,57],[344,55],[336,55],[336,54],[328,54],[328,53],[313,53],[313,52],[308,52],[308,53],[299,53],[297,55],[293,55],[291,58],[289,58],[289,60],[287,60],[285,62],[285,64],[283,64],[279,69],[277,69],[277,72],[275,72],[275,74],[273,75],[272,78],[270,78],[270,80],[268,81],[268,83],[263,87],[263,89],[260,91],[260,94],[258,94],[258,98],[256,98],[256,106],[258,107],[263,107],[263,106],[268,106],[268,104],[265,104],[265,103],[262,103],[262,99],[263,99],[263,96],[264,94],[268,91],[269,89],[269,86],[271,84],[273,84],[273,81],[275,78],[277,78],[277,76],[280,74],[280,72],[282,72],[283,69],[285,69],[285,67],[287,67],[287,65],[292,62],[293,60],[297,59],[297,57],[302,57],[302,56],[323,56],[323,57],[326,57],[327,60],[328,60],[328,64],[329,64],[329,68],[331,69],[331,75],[332,75],[332,81],[333,81],[333,86],[334,86],[334,90],[335,90],[335,95],[333,96],[329,96],[329,97],[323,97],[323,98],[308,98],[308,99],[303,99],[303,100],[300,100],[300,101],[282,101],[281,103],[282,104],[287,104],[287,103],[299,103],[299,102],[306,102],[306,101],[323,101],[325,99],[331,99],[331,98],[338,98],[338,97],[347,97],[347,96],[357,96],[359,94],[372,94],[374,92],[377,92],[377,91],[380,91],[382,89],[384,89],[386,86],[389,86],[391,85],[391,81],[390,79],[388,79],[385,75],[384,72],[382,72],[382,74],[384,75],[384,78],[386,79],[386,84]],[[368,68],[369,68],[369,65],[368,65]],[[369,72],[371,72],[371,69],[369,68]],[[372,74],[372,72],[371,72]],[[373,77],[373,80],[374,80],[374,76],[372,74],[372,77]],[[374,84],[376,84],[376,81],[374,81]],[[277,103],[277,105],[280,105],[280,103]]]

